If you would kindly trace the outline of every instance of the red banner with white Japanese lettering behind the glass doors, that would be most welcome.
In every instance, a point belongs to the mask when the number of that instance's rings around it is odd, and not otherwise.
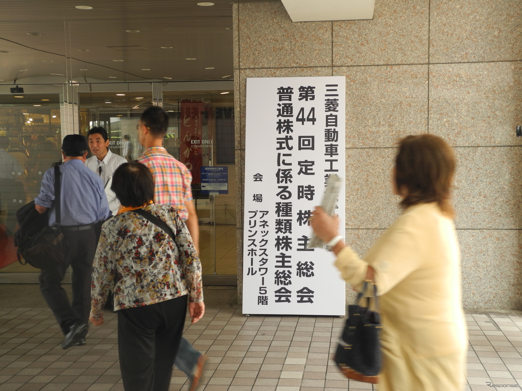
[[[193,184],[201,182],[200,168],[203,164],[201,139],[206,106],[203,102],[181,101],[180,161],[191,171]]]

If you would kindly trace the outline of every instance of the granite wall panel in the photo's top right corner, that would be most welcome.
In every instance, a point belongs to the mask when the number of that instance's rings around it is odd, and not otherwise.
[[[431,0],[430,62],[522,59],[520,0]]]

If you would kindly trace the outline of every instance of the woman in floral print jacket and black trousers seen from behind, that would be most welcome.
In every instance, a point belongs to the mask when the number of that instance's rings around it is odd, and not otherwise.
[[[113,290],[125,391],[167,391],[187,296],[192,323],[205,311],[201,264],[178,212],[152,203],[154,180],[147,167],[122,164],[111,189],[122,206],[102,227],[93,264],[90,321],[103,324],[103,306]],[[174,240],[141,211],[167,224]]]

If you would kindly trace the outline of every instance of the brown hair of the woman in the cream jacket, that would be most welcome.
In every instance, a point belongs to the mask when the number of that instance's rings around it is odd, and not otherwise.
[[[402,207],[436,202],[443,214],[454,217],[450,201],[455,155],[440,137],[421,134],[399,141],[395,158],[395,184],[406,192]]]

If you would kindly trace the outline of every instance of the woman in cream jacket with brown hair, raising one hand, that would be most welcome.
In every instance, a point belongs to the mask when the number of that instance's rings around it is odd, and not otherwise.
[[[395,163],[404,212],[364,260],[339,241],[335,265],[355,290],[373,272],[383,324],[379,391],[462,391],[468,340],[449,201],[453,151],[436,136],[408,136]],[[312,219],[324,242],[338,235],[336,217],[318,207]]]

